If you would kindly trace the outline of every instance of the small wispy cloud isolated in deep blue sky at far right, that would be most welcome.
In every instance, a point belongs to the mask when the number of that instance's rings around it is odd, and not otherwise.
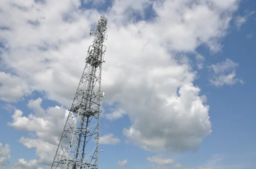
[[[214,72],[209,81],[215,86],[234,85],[237,82],[243,83],[241,79],[236,77],[238,65],[238,63],[232,60],[226,59],[224,62],[208,66],[208,68]]]

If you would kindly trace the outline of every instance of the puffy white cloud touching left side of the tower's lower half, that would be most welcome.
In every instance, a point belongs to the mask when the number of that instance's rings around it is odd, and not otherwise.
[[[40,138],[50,144],[58,144],[60,133],[63,130],[65,119],[67,118],[67,110],[62,107],[49,107],[47,110],[41,107],[41,98],[34,100],[40,102],[32,107],[29,101],[28,107],[34,110],[43,110],[44,115],[37,115],[38,112],[29,114],[27,117],[23,116],[21,110],[16,110],[12,115],[12,122],[8,123],[10,126],[15,127],[17,130],[24,130],[35,132]],[[58,127],[60,126],[60,127]],[[51,137],[49,137],[51,135]]]

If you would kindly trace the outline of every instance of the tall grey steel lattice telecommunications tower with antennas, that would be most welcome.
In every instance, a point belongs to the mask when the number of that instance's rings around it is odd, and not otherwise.
[[[99,116],[104,93],[101,89],[102,63],[105,62],[107,19],[100,17],[89,46],[86,65],[51,169],[97,169],[99,157]]]

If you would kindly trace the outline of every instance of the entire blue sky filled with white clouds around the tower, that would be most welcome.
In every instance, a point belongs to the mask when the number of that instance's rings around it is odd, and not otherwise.
[[[100,169],[255,169],[254,0],[1,0],[0,169],[49,169],[108,19]]]

